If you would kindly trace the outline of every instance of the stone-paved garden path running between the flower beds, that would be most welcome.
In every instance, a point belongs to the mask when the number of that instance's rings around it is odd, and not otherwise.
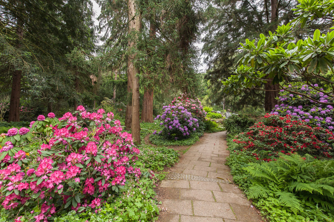
[[[204,134],[157,189],[158,222],[261,222],[225,165],[225,132]]]

